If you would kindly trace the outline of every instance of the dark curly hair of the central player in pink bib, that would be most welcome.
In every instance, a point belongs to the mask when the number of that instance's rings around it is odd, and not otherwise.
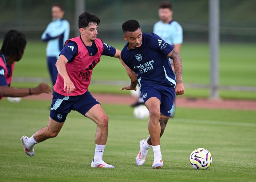
[[[97,25],[100,24],[100,18],[90,12],[83,12],[78,17],[78,27],[85,28],[90,25],[90,23],[96,23]]]

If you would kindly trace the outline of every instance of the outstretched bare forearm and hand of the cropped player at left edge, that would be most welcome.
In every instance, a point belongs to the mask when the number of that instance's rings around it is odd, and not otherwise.
[[[41,93],[52,93],[52,89],[46,83],[40,83],[37,87],[31,88],[31,95]],[[14,88],[8,86],[0,86],[0,94],[4,97],[23,97],[30,95],[29,88]]]

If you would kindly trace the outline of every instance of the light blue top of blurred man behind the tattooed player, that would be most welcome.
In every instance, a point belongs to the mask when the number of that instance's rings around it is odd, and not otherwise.
[[[156,22],[153,33],[157,34],[171,45],[182,44],[183,42],[182,27],[176,21],[171,21],[169,23],[163,23],[162,21]]]

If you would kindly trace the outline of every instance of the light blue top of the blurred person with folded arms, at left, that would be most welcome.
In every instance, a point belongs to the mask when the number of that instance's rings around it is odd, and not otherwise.
[[[42,34],[41,39],[48,42],[46,47],[46,56],[59,57],[64,43],[69,39],[69,22],[64,19],[57,19],[50,22]]]

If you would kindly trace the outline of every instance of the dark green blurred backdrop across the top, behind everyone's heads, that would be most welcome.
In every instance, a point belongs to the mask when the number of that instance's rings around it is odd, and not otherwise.
[[[40,39],[51,21],[51,6],[60,2],[64,18],[70,22],[70,37],[77,35],[75,0],[1,0],[0,37],[9,29],[24,32],[28,39]],[[159,21],[161,0],[85,0],[84,9],[100,20],[99,38],[122,40],[122,23],[129,19],[140,22],[143,32],[152,32]],[[183,27],[184,42],[208,41],[208,0],[170,0],[174,19]],[[80,12],[78,12],[80,13]],[[220,41],[256,42],[256,1],[220,0]]]

